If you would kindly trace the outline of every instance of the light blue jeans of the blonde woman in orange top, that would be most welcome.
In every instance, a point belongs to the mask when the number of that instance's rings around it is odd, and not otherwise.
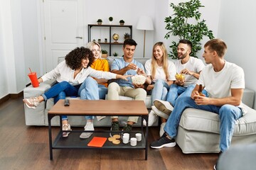
[[[92,77],[87,77],[78,90],[78,96],[80,96],[82,100],[99,100],[97,81],[92,79]],[[93,118],[94,116],[92,115],[85,116],[86,120],[92,120]]]

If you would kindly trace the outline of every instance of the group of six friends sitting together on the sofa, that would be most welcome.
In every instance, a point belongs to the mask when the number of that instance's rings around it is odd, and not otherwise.
[[[28,108],[36,108],[41,101],[54,98],[54,103],[66,96],[80,96],[82,100],[119,100],[129,96],[144,101],[151,94],[149,126],[161,117],[160,138],[150,147],[174,147],[178,123],[186,108],[198,108],[217,113],[220,118],[220,152],[230,147],[235,120],[246,113],[242,106],[245,76],[241,67],[224,60],[227,45],[223,40],[213,39],[204,45],[203,61],[191,57],[192,43],[180,40],[177,47],[178,60],[168,60],[163,42],[156,42],[152,57],[143,65],[134,60],[137,42],[124,40],[122,58],[114,59],[109,66],[101,59],[101,47],[97,42],[88,42],[87,47],[76,47],[65,56],[65,60],[52,71],[38,79],[43,82],[56,79],[56,83],[45,94],[24,98]],[[144,84],[134,84],[134,75],[146,77]],[[177,76],[178,74],[178,76]],[[109,79],[114,79],[107,84]],[[201,89],[202,86],[202,89]],[[85,116],[85,130],[94,130],[93,117]],[[130,116],[124,131],[131,131],[138,117]],[[67,116],[62,117],[63,137],[68,137],[70,125]],[[144,121],[144,123],[146,123]],[[112,132],[119,131],[117,116],[112,117]],[[80,138],[88,138],[92,132],[82,132]]]

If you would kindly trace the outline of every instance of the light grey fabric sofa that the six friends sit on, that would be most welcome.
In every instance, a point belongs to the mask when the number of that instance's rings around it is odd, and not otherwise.
[[[58,59],[63,60],[63,57]],[[108,57],[111,64],[114,57]],[[143,64],[146,58],[136,59]],[[40,84],[38,88],[28,86],[23,90],[24,98],[31,96],[38,96],[50,89],[54,81],[46,81]],[[247,144],[256,142],[256,111],[252,109],[255,98],[255,91],[245,89],[242,96],[242,102],[247,105],[248,113],[237,120],[235,125],[235,133],[233,135],[232,145]],[[119,96],[120,100],[132,100],[132,98]],[[145,105],[151,108],[151,96],[146,96]],[[48,125],[47,113],[53,106],[53,99],[46,102],[41,102],[36,109],[27,108],[25,106],[26,125]],[[119,118],[122,123],[127,120],[126,117]],[[73,116],[69,118],[70,125],[84,126],[85,118],[80,116]],[[141,119],[138,120],[137,125],[140,125]],[[181,121],[178,125],[178,135],[176,142],[181,147],[183,153],[214,153],[219,152],[219,120],[218,115],[207,111],[201,111],[193,108],[187,108],[181,116]],[[59,125],[59,118],[52,119],[52,125]],[[95,126],[110,127],[110,117],[103,120],[94,120]],[[158,125],[156,122],[154,125]]]

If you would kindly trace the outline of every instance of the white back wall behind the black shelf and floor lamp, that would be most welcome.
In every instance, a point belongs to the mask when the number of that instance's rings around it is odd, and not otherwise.
[[[99,5],[101,4],[101,5]],[[125,21],[125,25],[132,25],[132,38],[137,42],[137,49],[134,54],[134,57],[143,57],[143,43],[144,43],[144,31],[137,30],[137,21],[139,20],[139,16],[150,16],[152,20],[154,20],[155,16],[155,1],[154,0],[140,0],[136,1],[119,1],[119,0],[98,0],[98,1],[84,1],[84,16],[85,16],[85,28],[87,28],[87,24],[96,23],[98,18],[101,18],[102,24],[109,24],[108,18],[110,16],[113,17],[112,24],[119,25],[119,21],[123,19]],[[154,21],[156,23],[156,21]],[[156,24],[154,25],[156,26]],[[128,31],[127,31],[128,32]],[[85,43],[87,42],[87,30],[85,30]],[[112,33],[114,34],[114,33]],[[101,32],[98,35],[101,40],[104,38],[109,39],[108,32]],[[119,34],[119,41],[124,40],[123,35]],[[93,39],[93,38],[92,38]],[[96,39],[97,40],[97,39]],[[151,47],[154,44],[154,31],[148,30],[146,31],[146,47],[145,47],[145,57],[151,57]],[[114,47],[114,45],[112,45]],[[102,49],[108,50],[108,47],[102,45]],[[122,46],[117,45],[112,48],[112,53],[117,52],[120,56],[122,56]],[[109,54],[110,55],[110,54]],[[112,55],[112,54],[111,54]]]

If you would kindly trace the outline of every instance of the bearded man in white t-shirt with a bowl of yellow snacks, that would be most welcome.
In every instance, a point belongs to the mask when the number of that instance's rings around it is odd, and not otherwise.
[[[155,107],[152,107],[152,110],[156,115],[161,117],[162,121],[159,132],[160,136],[163,135],[164,125],[166,125],[166,121],[169,118],[171,111],[174,110],[176,99],[179,96],[191,96],[191,91],[193,91],[196,86],[196,81],[199,78],[200,72],[203,67],[205,67],[202,60],[190,56],[191,48],[192,43],[189,40],[180,40],[178,42],[178,60],[176,60],[174,64],[176,66],[177,73],[183,74],[185,79],[176,79],[174,84],[171,84],[166,101],[159,99],[154,101]],[[206,91],[203,92],[206,94]]]

